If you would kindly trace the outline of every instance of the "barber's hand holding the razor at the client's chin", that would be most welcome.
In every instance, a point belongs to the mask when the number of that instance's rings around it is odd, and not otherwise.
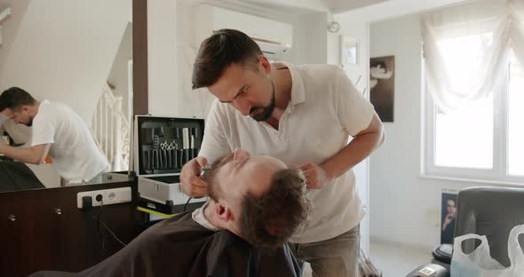
[[[194,198],[207,196],[208,184],[200,178],[202,167],[206,165],[208,165],[206,158],[196,157],[186,162],[184,167],[182,167],[180,171],[180,187],[184,194]]]

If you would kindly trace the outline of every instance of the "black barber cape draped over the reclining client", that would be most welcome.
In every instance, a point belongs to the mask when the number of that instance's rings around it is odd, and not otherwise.
[[[191,212],[149,227],[129,245],[98,265],[71,276],[249,277],[301,276],[287,245],[256,249],[228,231],[210,231]],[[32,276],[69,276],[50,272]]]

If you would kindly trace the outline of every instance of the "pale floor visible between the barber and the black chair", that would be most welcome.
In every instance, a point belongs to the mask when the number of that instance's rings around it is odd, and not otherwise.
[[[370,259],[384,277],[403,277],[419,265],[431,261],[431,253],[391,242],[371,241]],[[311,277],[311,267],[306,263],[304,277]]]

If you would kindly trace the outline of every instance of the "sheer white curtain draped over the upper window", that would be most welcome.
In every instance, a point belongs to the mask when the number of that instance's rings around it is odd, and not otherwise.
[[[427,88],[443,112],[483,99],[524,62],[524,0],[483,0],[422,16]]]

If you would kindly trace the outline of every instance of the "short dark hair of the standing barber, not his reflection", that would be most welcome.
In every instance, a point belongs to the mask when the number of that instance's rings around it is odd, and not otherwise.
[[[256,66],[260,55],[260,47],[250,36],[234,29],[218,30],[200,45],[193,67],[193,89],[216,83],[231,64]]]

